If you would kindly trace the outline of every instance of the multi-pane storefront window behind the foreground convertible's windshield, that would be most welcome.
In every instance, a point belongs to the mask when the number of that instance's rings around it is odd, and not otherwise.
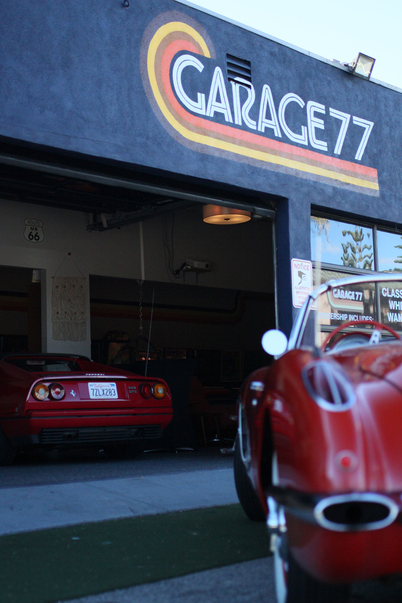
[[[366,270],[375,269],[378,272],[402,274],[402,232],[385,232],[317,216],[311,216],[310,230],[311,258],[317,262],[321,254],[323,265],[320,270],[319,264],[314,264],[314,289],[327,280],[353,276],[345,271],[349,266],[357,268],[362,274]],[[374,236],[377,236],[375,259]],[[333,270],[328,269],[326,264],[333,264]],[[309,325],[304,338],[314,337],[317,341],[317,333],[321,333],[324,341],[327,333],[339,324],[362,319],[380,320],[402,332],[402,287],[400,288],[400,283],[387,282],[385,275],[384,282],[377,285],[364,283],[333,289],[327,295],[319,297],[316,303],[316,308],[313,307],[316,310],[313,312],[314,318],[311,317],[314,324]],[[364,327],[359,327],[362,328]]]

